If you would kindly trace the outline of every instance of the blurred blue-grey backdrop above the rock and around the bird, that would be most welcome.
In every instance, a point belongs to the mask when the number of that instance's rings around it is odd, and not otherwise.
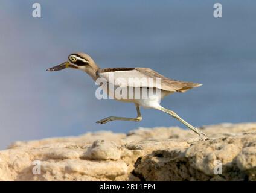
[[[41,5],[41,18],[32,5]],[[95,122],[136,116],[133,104],[97,100],[82,71],[46,72],[73,52],[101,68],[149,67],[203,86],[162,100],[192,125],[256,120],[255,1],[0,1],[0,149],[14,141],[179,126],[142,109],[141,122]]]

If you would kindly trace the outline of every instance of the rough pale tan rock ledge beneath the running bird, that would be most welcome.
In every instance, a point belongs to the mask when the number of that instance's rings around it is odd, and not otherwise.
[[[0,151],[0,180],[256,180],[256,123],[100,131],[14,142]]]

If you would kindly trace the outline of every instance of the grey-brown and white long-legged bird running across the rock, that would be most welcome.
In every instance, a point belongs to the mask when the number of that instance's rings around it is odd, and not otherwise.
[[[173,94],[175,92],[184,93],[187,90],[193,89],[194,87],[202,86],[202,84],[186,82],[186,81],[178,81],[172,80],[170,78],[164,77],[164,75],[159,74],[158,72],[153,71],[150,68],[100,68],[97,63],[94,62],[91,56],[85,54],[83,52],[75,52],[74,54],[68,55],[68,60],[66,62],[61,63],[60,65],[54,66],[52,68],[46,69],[46,71],[60,71],[66,68],[74,68],[79,69],[83,72],[86,72],[92,80],[97,82],[99,79],[105,80],[107,86],[114,86],[114,90],[117,87],[126,88],[126,89],[136,89],[137,92],[141,93],[142,90],[147,91],[158,91],[160,94],[154,95],[153,97],[130,97],[130,98],[117,98],[114,95],[114,99],[117,101],[122,102],[130,102],[134,103],[136,107],[137,116],[135,118],[126,118],[126,117],[118,117],[118,116],[109,116],[107,118],[101,119],[97,121],[98,124],[106,124],[110,121],[141,121],[142,116],[140,112],[140,107],[150,108],[160,110],[162,112],[167,113],[168,115],[172,116],[173,118],[178,119],[178,121],[182,122],[186,127],[190,128],[194,133],[199,136],[198,141],[205,141],[209,138],[206,136],[205,133],[200,131],[198,128],[194,127],[193,125],[189,124],[187,121],[182,119],[176,112],[170,109],[166,109],[165,107],[161,106],[161,100],[165,96]],[[110,76],[114,76],[114,81],[110,81]],[[121,84],[117,83],[117,79],[121,79]],[[160,80],[159,84],[152,84],[153,86],[143,86],[143,84],[137,84],[134,86],[129,84],[129,78],[158,78]],[[145,80],[145,79],[144,79]],[[127,83],[128,82],[128,83]],[[103,82],[101,83],[101,86]],[[100,86],[100,87],[101,87]],[[104,88],[103,91],[107,93],[107,95],[112,94],[114,90],[110,91],[110,89]],[[133,95],[135,95],[133,93]]]

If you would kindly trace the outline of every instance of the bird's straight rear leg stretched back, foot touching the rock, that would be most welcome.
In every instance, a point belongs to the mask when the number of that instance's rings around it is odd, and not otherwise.
[[[164,107],[159,107],[158,110],[161,110],[165,113],[168,113],[173,118],[178,119],[178,121],[182,122],[184,125],[186,125],[188,128],[190,128],[192,131],[194,131],[194,133],[198,134],[199,135],[199,141],[205,141],[206,139],[208,139],[205,133],[198,130],[196,127],[193,127],[188,122],[184,121],[184,119],[180,118],[179,115],[177,115],[174,111],[165,109]]]

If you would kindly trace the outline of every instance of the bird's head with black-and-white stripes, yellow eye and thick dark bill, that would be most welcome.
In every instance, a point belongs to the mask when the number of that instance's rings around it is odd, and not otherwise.
[[[98,66],[88,54],[77,52],[74,54],[70,54],[66,62],[63,62],[57,66],[53,66],[46,71],[60,71],[65,68],[80,69],[91,74],[92,72],[97,71]]]

